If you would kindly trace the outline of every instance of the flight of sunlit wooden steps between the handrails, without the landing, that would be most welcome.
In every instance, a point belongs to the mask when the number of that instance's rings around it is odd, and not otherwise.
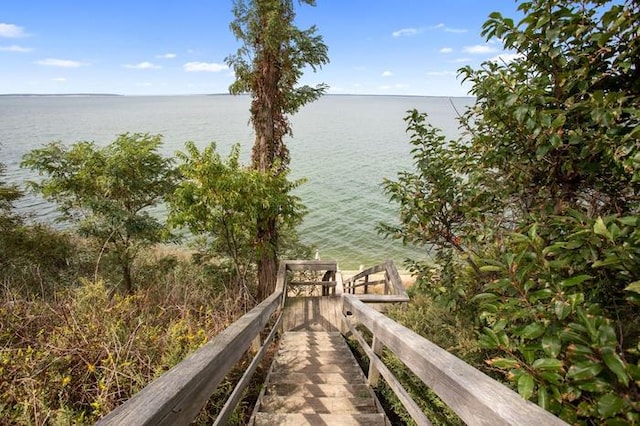
[[[390,423],[340,333],[289,331],[249,424]]]

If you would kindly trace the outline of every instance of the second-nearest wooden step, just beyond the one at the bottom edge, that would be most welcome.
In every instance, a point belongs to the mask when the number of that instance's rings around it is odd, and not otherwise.
[[[263,398],[260,409],[270,413],[318,414],[357,414],[377,411],[376,404],[370,395],[365,398],[269,395]]]

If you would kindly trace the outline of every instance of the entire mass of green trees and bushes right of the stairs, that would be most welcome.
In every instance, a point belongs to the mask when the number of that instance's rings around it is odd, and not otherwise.
[[[490,374],[570,423],[637,423],[640,7],[520,9],[483,29],[517,57],[461,70],[465,139],[409,113],[415,171],[385,182],[382,231],[437,249],[417,291],[475,318]]]

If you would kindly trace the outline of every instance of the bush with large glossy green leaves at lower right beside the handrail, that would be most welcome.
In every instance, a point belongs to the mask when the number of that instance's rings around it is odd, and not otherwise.
[[[603,219],[558,220],[573,231],[564,240],[548,244],[532,225],[509,236],[500,258],[482,262],[492,279],[474,300],[483,323],[479,342],[493,352],[487,363],[504,371],[524,398],[537,398],[570,422],[616,416],[637,422],[638,357],[622,342],[637,342],[638,326],[610,318],[635,317],[624,282],[637,280],[639,247],[600,235]],[[621,224],[606,221],[610,229]],[[636,232],[635,223],[621,230]],[[612,253],[620,258],[606,262]],[[625,258],[632,267],[621,265]],[[625,281],[616,279],[621,271]]]

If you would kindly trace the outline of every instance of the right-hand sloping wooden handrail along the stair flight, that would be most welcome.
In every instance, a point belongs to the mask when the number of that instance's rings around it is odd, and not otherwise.
[[[566,425],[453,354],[367,306],[355,295],[343,294],[342,302],[343,312],[373,334],[374,348],[366,345],[365,351],[371,358],[374,374],[383,377],[390,374],[388,369],[380,368],[383,364],[378,357],[381,346],[385,346],[469,425]],[[357,333],[353,325],[349,328]],[[394,379],[388,379],[387,383],[396,393],[403,393],[404,389],[396,388],[397,383],[392,383]],[[415,411],[411,404],[407,408],[410,414]],[[422,418],[414,420],[425,424]]]

